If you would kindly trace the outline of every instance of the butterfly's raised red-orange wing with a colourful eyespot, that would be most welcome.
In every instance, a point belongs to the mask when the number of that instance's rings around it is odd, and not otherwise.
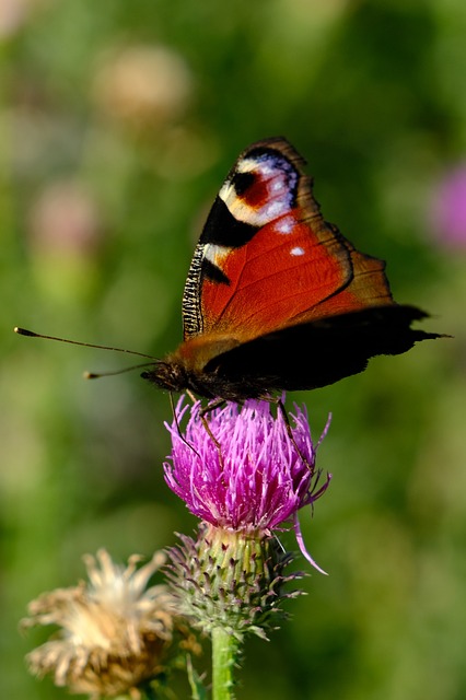
[[[206,222],[187,277],[185,340],[241,342],[279,328],[391,305],[384,262],[324,221],[304,161],[282,138],[246,149]]]

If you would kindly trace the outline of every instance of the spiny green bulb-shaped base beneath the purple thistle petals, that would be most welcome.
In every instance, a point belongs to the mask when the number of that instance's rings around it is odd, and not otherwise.
[[[167,578],[183,614],[206,633],[222,627],[237,639],[246,632],[267,638],[287,617],[282,600],[301,593],[284,591],[305,574],[284,574],[293,557],[273,537],[200,525],[196,541],[179,538],[168,551]]]

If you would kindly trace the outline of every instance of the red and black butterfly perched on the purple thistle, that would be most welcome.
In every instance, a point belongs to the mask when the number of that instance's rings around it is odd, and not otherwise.
[[[397,304],[385,262],[327,223],[281,137],[249,145],[207,218],[183,294],[184,340],[142,376],[209,399],[270,399],[362,372],[440,337]]]

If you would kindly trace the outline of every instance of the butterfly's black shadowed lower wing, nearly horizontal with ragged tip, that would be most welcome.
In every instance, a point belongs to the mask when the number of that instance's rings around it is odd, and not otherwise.
[[[410,328],[426,317],[408,305],[372,306],[288,326],[212,358],[205,374],[236,396],[314,389],[362,372],[377,354],[400,354],[415,342],[440,338]]]

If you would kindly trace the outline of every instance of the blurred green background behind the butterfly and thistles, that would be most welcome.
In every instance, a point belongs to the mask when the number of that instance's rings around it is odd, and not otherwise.
[[[289,397],[316,436],[334,413],[334,480],[302,516],[329,576],[247,644],[238,699],[465,698],[466,233],[433,214],[466,156],[464,0],[1,0],[0,43],[2,697],[67,695],[25,670],[30,599],[84,552],[150,556],[195,526],[162,478],[167,396],[137,372],[84,382],[130,359],[12,328],[173,349],[224,175],[283,135],[325,217],[455,338]]]

